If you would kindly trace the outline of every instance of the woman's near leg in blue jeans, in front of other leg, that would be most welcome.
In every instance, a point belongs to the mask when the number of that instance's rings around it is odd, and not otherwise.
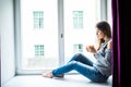
[[[70,63],[53,70],[52,76],[62,75],[62,74],[68,73],[72,70],[75,70],[76,72],[79,72],[80,74],[90,78],[93,82],[105,82],[105,79],[106,79],[106,77],[103,76],[93,66],[90,66],[90,65],[86,65],[86,64],[83,64],[83,63],[76,62],[76,61],[71,61]]]

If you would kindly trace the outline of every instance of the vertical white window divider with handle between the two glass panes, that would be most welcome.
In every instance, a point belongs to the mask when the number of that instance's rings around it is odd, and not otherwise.
[[[59,64],[64,64],[64,21],[63,0],[58,0],[58,41],[59,41]]]

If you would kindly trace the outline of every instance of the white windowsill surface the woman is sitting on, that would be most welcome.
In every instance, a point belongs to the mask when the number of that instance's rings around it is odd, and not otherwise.
[[[11,78],[2,87],[111,87],[110,77],[107,83],[93,83],[82,75],[66,75],[64,78],[46,78],[41,75],[22,75]]]

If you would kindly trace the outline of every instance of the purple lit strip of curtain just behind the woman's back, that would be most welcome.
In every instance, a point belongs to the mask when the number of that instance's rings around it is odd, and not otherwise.
[[[120,87],[120,17],[118,0],[111,0],[111,13],[112,13],[112,87]]]

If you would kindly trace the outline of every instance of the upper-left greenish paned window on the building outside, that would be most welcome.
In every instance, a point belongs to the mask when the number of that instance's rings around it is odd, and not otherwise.
[[[34,11],[34,28],[44,28],[44,12]]]

